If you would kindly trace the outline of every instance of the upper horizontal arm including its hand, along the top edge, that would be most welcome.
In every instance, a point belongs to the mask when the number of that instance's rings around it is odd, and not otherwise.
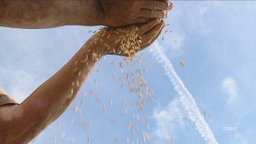
[[[172,4],[155,0],[1,0],[0,26],[127,26],[166,18]]]

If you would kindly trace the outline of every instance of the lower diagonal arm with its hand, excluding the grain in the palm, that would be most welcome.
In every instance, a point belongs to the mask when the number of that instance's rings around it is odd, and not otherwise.
[[[141,26],[138,35],[142,42],[136,52],[153,43],[163,27],[162,20],[153,20]],[[95,43],[99,37],[102,41]],[[98,32],[59,72],[38,87],[20,105],[0,108],[0,141],[3,144],[27,143],[60,117],[76,97],[102,55],[127,55],[124,49],[120,49],[121,43],[115,43],[119,37],[120,34],[115,30]],[[113,49],[109,50],[105,44]]]

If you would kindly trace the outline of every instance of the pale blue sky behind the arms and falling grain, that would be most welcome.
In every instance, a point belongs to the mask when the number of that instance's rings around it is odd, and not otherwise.
[[[171,24],[166,26],[169,31],[163,32],[158,41],[194,95],[201,112],[206,112],[204,117],[216,140],[220,144],[256,143],[253,124],[256,2],[173,3],[174,8],[166,20]],[[1,87],[18,101],[25,100],[81,48],[92,35],[90,30],[97,29],[89,26],[44,30],[0,27]],[[143,107],[143,112],[139,112],[133,103],[137,95],[131,95],[126,85],[120,89],[122,82],[118,79],[136,68],[127,66],[122,72],[119,65],[110,64],[113,60],[119,62],[122,59],[108,55],[106,60],[97,63],[67,112],[31,143],[80,144],[86,143],[87,136],[90,136],[92,144],[123,144],[127,137],[132,143],[131,131],[127,130],[130,121],[137,127],[134,139],[141,143],[143,132],[154,138],[155,143],[164,144],[172,138],[175,144],[206,143],[187,118],[163,67],[155,64],[158,61],[148,50],[141,54],[145,60],[137,67],[146,69],[144,79],[154,91],[154,102]],[[180,60],[186,60],[184,67],[179,65]],[[113,74],[117,78],[111,78]],[[99,95],[100,101],[90,95],[91,91]],[[87,95],[83,96],[84,92]],[[124,99],[131,105],[127,113],[124,112]],[[74,107],[78,107],[82,100],[80,112],[74,112]],[[105,114],[102,110],[104,105],[107,107]],[[135,119],[132,118],[133,112]],[[138,117],[145,118],[145,122],[139,122]]]

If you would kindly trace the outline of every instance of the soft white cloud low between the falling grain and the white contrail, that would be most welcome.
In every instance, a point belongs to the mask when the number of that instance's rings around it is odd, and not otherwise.
[[[156,121],[157,128],[153,135],[157,136],[158,141],[170,140],[177,127],[185,124],[184,112],[180,106],[181,103],[176,98],[169,103],[168,107],[154,109],[153,118]]]

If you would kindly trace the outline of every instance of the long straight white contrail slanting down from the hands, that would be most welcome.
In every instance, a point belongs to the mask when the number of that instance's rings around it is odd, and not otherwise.
[[[174,89],[180,96],[180,101],[182,102],[185,111],[188,112],[189,119],[195,124],[196,130],[199,131],[201,137],[204,138],[208,144],[217,144],[218,142],[215,140],[209,124],[207,124],[206,120],[201,115],[193,95],[189,93],[188,89],[184,86],[183,81],[177,76],[177,73],[172,66],[172,62],[167,58],[162,49],[160,44],[155,42],[154,49],[151,49],[151,52],[153,52],[156,59],[164,66],[166,75],[171,79]]]

